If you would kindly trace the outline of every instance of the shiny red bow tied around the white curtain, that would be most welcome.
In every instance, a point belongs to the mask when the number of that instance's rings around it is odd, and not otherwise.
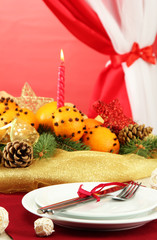
[[[122,62],[126,62],[127,66],[130,67],[139,58],[142,58],[148,63],[156,64],[156,57],[155,54],[153,54],[153,46],[151,45],[140,48],[138,43],[134,42],[129,53],[113,55],[111,56],[111,61],[115,67]]]

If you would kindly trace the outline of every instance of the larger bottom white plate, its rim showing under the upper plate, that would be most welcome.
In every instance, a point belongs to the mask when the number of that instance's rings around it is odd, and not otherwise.
[[[35,197],[37,196],[40,189],[31,191],[27,193],[22,199],[22,205],[29,212],[41,216],[51,218],[55,224],[70,227],[70,228],[81,228],[81,229],[93,229],[93,230],[105,230],[105,231],[115,231],[115,230],[125,230],[131,228],[140,227],[152,220],[157,219],[157,209],[153,209],[151,212],[146,212],[143,216],[132,217],[126,219],[86,219],[86,218],[74,218],[74,217],[63,217],[59,215],[49,215],[49,214],[38,214],[38,206],[35,203]]]

